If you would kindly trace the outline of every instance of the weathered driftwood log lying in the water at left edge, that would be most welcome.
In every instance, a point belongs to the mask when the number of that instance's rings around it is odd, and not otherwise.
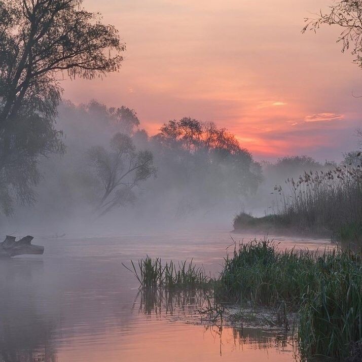
[[[0,257],[15,257],[23,254],[43,254],[44,246],[31,245],[32,236],[25,236],[19,241],[15,241],[15,236],[7,236],[0,243]]]

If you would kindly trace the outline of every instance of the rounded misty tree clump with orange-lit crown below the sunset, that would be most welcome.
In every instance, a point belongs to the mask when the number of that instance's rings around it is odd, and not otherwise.
[[[261,167],[225,128],[193,118],[171,120],[151,138],[157,161],[165,170],[160,178],[177,188],[182,200],[178,212],[195,205],[235,202],[255,193],[262,180]]]

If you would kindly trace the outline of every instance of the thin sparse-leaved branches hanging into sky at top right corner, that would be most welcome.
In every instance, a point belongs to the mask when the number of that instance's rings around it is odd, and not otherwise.
[[[315,32],[324,24],[342,27],[337,42],[342,44],[342,52],[351,49],[354,62],[362,67],[362,1],[341,0],[333,4],[327,13],[320,10],[315,18],[305,18],[306,25],[302,32]]]

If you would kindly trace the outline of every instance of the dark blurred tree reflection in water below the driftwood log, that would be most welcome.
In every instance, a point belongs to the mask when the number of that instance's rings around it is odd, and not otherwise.
[[[56,361],[54,321],[32,283],[42,272],[39,261],[0,260],[0,362]]]

